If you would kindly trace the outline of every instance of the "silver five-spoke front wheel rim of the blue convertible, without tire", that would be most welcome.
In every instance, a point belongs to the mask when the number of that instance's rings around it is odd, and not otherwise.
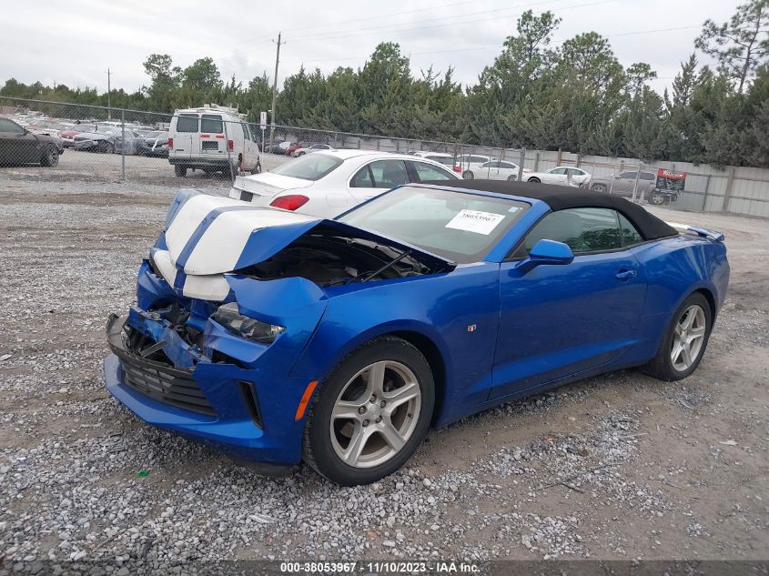
[[[379,466],[409,441],[420,409],[421,389],[414,372],[395,360],[374,362],[339,393],[331,411],[331,445],[348,466]]]

